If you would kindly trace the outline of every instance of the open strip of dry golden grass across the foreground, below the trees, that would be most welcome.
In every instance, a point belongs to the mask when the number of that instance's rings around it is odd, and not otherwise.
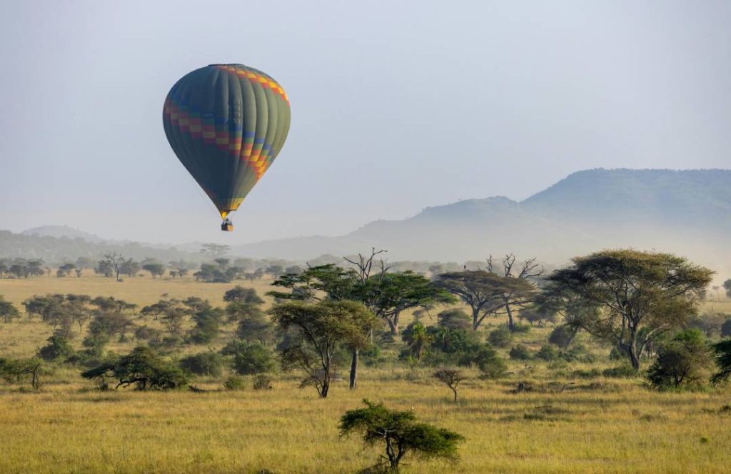
[[[461,462],[414,463],[406,472],[712,473],[731,462],[727,396],[659,394],[636,382],[594,390],[510,394],[508,383],[472,380],[461,400],[431,383],[364,372],[357,391],[317,399],[283,380],[273,391],[80,392],[46,387],[0,395],[1,472],[355,472],[376,451],[341,440],[336,424],[367,397],[414,408],[461,432]],[[583,385],[588,385],[584,383]]]

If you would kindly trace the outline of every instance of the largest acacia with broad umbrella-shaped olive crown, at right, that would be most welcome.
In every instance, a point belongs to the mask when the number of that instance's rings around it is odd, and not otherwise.
[[[605,250],[572,262],[548,281],[558,295],[579,297],[599,309],[578,315],[572,324],[613,342],[636,370],[648,343],[697,312],[713,276],[683,257],[632,249]]]

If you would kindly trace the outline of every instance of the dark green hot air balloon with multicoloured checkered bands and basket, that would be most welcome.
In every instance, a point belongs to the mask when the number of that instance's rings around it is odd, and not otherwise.
[[[186,170],[228,215],[279,154],[289,99],[276,80],[243,64],[211,64],[178,80],[165,98],[165,135]]]

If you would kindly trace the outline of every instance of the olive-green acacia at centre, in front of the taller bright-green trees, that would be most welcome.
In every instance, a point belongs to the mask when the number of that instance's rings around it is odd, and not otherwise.
[[[292,331],[292,340],[281,347],[284,369],[305,372],[301,386],[314,386],[322,398],[335,375],[338,347],[362,347],[375,323],[374,315],[356,301],[290,301],[273,306],[270,315],[282,332]]]

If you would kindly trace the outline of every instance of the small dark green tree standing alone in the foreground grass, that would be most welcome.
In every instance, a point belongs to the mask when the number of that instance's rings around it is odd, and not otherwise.
[[[413,411],[389,410],[382,403],[363,400],[366,407],[347,411],[340,418],[340,435],[363,433],[366,445],[384,444],[385,456],[376,464],[392,473],[398,472],[404,456],[411,454],[425,459],[443,458],[455,461],[457,444],[464,440],[461,434],[448,429],[420,423]],[[375,471],[375,470],[374,470]]]

